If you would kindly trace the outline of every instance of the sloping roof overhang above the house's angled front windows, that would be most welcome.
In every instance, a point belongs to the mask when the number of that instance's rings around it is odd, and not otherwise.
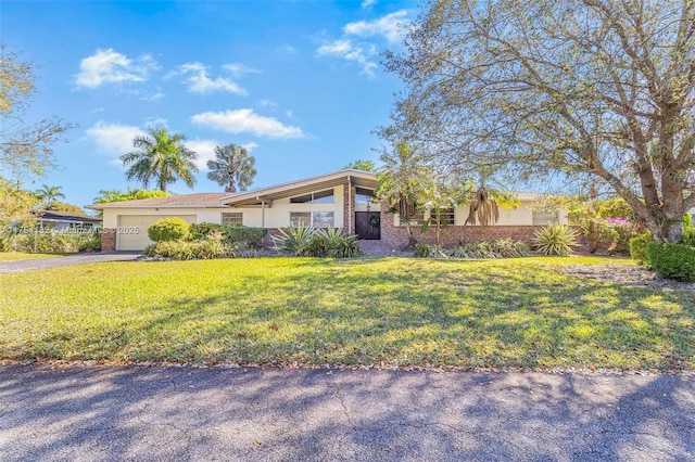
[[[339,185],[348,185],[374,189],[377,185],[377,176],[368,171],[341,170],[291,183],[278,184],[256,191],[232,194],[223,197],[223,204],[232,207],[271,207],[273,202],[279,198],[293,197]]]

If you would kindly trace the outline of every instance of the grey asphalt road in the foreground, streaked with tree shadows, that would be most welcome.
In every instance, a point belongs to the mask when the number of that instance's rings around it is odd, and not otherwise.
[[[0,460],[695,460],[695,377],[0,367]]]

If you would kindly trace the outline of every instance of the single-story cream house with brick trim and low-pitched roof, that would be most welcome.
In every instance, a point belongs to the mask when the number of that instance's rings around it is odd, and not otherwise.
[[[102,249],[138,251],[150,244],[147,229],[155,220],[179,217],[190,223],[236,223],[266,228],[313,226],[342,228],[364,240],[379,240],[394,248],[407,243],[407,232],[399,217],[374,197],[377,176],[361,170],[340,170],[289,183],[238,193],[195,193],[88,205],[103,213]],[[540,196],[519,194],[521,205],[502,210],[495,226],[464,226],[468,207],[446,210],[447,243],[513,238],[529,241],[535,229],[553,221],[567,223],[567,211],[535,210]],[[421,222],[428,213],[416,217]],[[419,233],[419,227],[416,233]],[[433,240],[433,227],[418,239]]]

